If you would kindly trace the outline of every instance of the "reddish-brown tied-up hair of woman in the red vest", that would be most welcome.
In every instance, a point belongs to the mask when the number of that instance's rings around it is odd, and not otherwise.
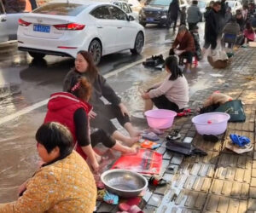
[[[85,77],[73,78],[67,91],[82,101],[88,101],[91,95],[91,84]]]

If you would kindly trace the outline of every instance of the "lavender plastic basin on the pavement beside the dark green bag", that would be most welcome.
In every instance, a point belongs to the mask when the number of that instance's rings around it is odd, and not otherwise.
[[[224,112],[204,113],[192,118],[200,135],[221,135],[227,130],[230,115]]]

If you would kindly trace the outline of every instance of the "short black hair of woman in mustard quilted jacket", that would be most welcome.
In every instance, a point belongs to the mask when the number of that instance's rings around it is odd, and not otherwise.
[[[59,147],[60,156],[55,160],[66,158],[73,151],[73,136],[66,126],[57,122],[42,124],[36,133],[36,140],[45,147],[47,153]]]

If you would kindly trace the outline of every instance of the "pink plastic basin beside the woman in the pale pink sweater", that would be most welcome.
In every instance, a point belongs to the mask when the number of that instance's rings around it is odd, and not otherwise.
[[[152,109],[145,112],[148,126],[158,130],[170,128],[176,115],[176,112],[166,109]]]

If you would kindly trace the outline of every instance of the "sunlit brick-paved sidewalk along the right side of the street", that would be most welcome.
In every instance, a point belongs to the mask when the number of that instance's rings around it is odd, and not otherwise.
[[[247,115],[245,123],[229,123],[221,141],[203,141],[191,123],[192,117],[176,118],[172,128],[182,137],[193,137],[193,144],[208,153],[207,157],[187,157],[166,151],[165,141],[157,152],[163,154],[166,187],[148,188],[141,207],[146,213],[171,212],[254,212],[256,211],[256,146],[251,153],[238,155],[225,149],[230,133],[245,135],[254,143],[256,112],[256,49],[239,49],[223,75],[210,78],[208,89],[197,91],[190,98],[193,109],[219,90],[234,99],[241,99]],[[207,70],[205,70],[207,72]],[[253,78],[252,78],[253,77]],[[172,165],[176,170],[165,171]],[[174,196],[174,194],[176,195]],[[97,212],[116,212],[117,206],[97,203]]]

